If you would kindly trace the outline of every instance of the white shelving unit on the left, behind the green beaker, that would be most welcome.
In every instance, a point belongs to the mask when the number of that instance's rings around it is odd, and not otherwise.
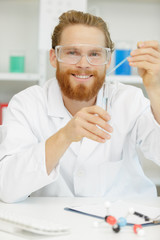
[[[38,0],[0,1],[0,102],[39,83]],[[11,52],[22,50],[25,73],[9,73]]]

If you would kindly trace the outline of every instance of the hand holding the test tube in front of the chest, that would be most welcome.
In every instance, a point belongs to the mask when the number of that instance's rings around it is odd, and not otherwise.
[[[75,114],[63,131],[70,142],[78,142],[86,137],[103,143],[106,139],[110,139],[109,133],[113,131],[107,123],[109,120],[109,114],[101,107],[86,107]]]

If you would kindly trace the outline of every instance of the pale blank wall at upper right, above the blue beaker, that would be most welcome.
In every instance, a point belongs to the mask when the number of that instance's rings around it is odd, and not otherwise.
[[[113,41],[160,41],[160,1],[88,0],[88,9],[108,23]]]

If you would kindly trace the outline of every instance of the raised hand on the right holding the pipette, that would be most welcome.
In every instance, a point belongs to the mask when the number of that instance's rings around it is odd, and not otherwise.
[[[138,49],[131,52],[129,65],[138,68],[146,88],[160,88],[160,45],[158,41],[137,43]]]

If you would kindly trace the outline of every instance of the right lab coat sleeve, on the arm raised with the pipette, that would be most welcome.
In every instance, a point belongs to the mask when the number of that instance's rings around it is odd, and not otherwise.
[[[136,121],[133,136],[144,157],[160,165],[160,125],[154,118],[150,102],[146,100],[142,103],[144,100],[141,99],[139,106],[143,105],[142,112]]]

